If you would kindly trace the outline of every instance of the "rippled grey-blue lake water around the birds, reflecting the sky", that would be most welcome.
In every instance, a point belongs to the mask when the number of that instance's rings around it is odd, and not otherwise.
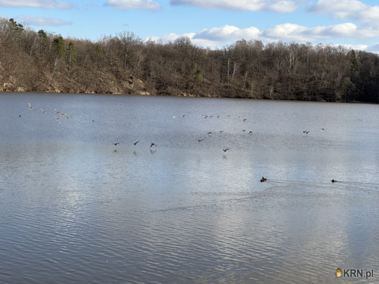
[[[379,105],[1,93],[0,114],[1,283],[379,281]]]

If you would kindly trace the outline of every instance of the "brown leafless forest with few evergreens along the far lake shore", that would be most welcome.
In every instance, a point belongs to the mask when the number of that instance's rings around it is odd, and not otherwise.
[[[0,18],[0,90],[379,102],[379,57],[344,46],[244,39],[205,49],[132,32],[62,38]]]

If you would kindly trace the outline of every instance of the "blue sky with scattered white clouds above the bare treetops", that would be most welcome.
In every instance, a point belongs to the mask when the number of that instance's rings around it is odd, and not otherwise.
[[[130,31],[146,40],[188,36],[221,48],[240,39],[310,42],[379,52],[377,0],[0,0],[0,16],[96,41]]]

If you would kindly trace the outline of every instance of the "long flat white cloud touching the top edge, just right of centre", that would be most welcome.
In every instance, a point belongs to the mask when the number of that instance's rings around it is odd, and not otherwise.
[[[280,13],[290,13],[299,8],[299,5],[292,0],[170,0],[170,5]]]

